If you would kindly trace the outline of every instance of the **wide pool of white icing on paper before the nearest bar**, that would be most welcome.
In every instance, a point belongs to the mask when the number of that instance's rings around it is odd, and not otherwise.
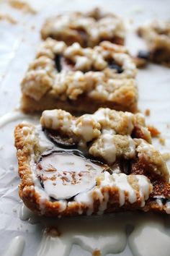
[[[125,230],[129,225],[134,230],[128,238],[130,250],[125,252]],[[98,218],[61,218],[53,221],[53,228],[47,220],[45,226],[50,229],[45,230],[36,256],[55,256],[56,252],[60,256],[75,255],[72,244],[79,244],[91,253],[99,251],[101,255],[122,252],[122,255],[169,256],[169,235],[161,218],[154,215],[125,213]]]

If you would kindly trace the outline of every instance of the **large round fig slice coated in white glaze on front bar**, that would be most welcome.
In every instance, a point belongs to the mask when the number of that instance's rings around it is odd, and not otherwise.
[[[73,153],[53,152],[40,158],[36,171],[49,197],[69,200],[94,187],[104,168]]]

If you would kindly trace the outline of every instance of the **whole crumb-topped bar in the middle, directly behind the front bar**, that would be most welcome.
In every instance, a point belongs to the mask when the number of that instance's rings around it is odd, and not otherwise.
[[[137,111],[136,67],[124,46],[94,48],[45,40],[22,81],[22,111],[62,108],[94,113],[99,107]]]

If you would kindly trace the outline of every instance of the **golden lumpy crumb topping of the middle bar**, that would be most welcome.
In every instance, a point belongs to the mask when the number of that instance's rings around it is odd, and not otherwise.
[[[65,58],[60,71],[55,67],[55,56]],[[22,80],[22,93],[36,101],[45,93],[63,101],[86,94],[94,100],[121,104],[125,96],[128,101],[137,97],[135,74],[135,64],[123,46],[102,42],[93,49],[81,48],[79,43],[67,47],[48,38]]]

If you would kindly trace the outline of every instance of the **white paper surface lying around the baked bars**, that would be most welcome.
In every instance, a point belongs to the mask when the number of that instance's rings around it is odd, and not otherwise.
[[[7,1],[1,1],[0,14],[10,14],[16,25],[0,21],[0,115],[13,111],[19,106],[20,88],[27,66],[35,55],[40,41],[39,30],[45,17],[57,12],[86,10],[91,7],[102,7],[125,17],[128,27],[143,24],[155,18],[168,19],[170,2],[164,1],[30,1],[37,14],[24,14],[9,7]],[[133,24],[130,25],[129,20]],[[35,29],[32,29],[32,25]],[[143,42],[130,32],[127,45],[133,53],[143,46]],[[143,46],[144,47],[144,46]],[[146,118],[161,131],[166,140],[162,146],[158,140],[154,144],[161,152],[170,152],[170,69],[149,64],[138,72],[139,107],[142,112],[149,108],[151,116]],[[30,121],[36,122],[36,117]],[[19,219],[19,208],[22,202],[18,196],[19,177],[17,176],[17,158],[14,148],[14,126],[19,120],[0,128],[0,255],[6,250],[12,238],[23,235],[26,240],[24,256],[36,255],[42,233],[38,224],[32,225]],[[169,125],[169,127],[168,127]],[[73,247],[71,255],[91,255],[78,246]],[[119,254],[130,255],[129,250]]]

